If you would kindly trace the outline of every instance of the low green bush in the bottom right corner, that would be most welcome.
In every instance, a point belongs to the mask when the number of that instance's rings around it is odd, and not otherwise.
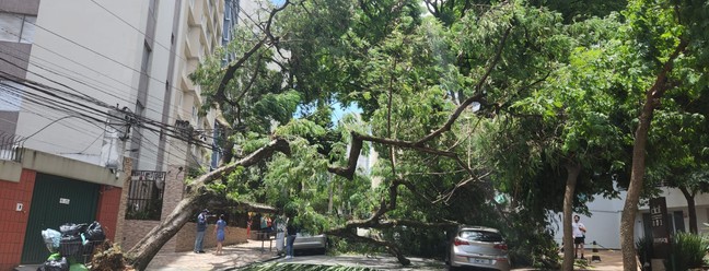
[[[704,257],[707,252],[709,252],[709,240],[704,238],[701,235],[677,233],[672,238],[674,270],[701,268],[705,263]]]

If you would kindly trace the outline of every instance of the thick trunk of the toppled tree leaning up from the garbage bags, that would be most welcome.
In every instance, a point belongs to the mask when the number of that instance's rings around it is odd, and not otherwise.
[[[177,207],[160,224],[153,227],[146,236],[138,241],[128,252],[126,259],[137,270],[146,270],[148,263],[155,257],[160,248],[165,245],[179,229],[187,224],[189,219],[198,210],[224,203],[225,201],[214,201],[218,197],[207,189],[207,185],[222,176],[229,175],[239,166],[251,166],[274,155],[274,152],[290,154],[288,141],[276,139],[268,145],[258,149],[243,160],[217,168],[187,185],[187,193]]]

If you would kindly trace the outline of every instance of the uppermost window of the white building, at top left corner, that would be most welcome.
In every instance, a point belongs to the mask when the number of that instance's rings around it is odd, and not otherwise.
[[[32,44],[37,16],[0,12],[0,40]]]

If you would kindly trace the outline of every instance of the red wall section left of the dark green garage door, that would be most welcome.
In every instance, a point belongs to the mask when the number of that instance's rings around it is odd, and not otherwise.
[[[13,270],[20,263],[30,203],[36,173],[22,169],[20,182],[0,180],[0,270]],[[16,204],[23,211],[15,211]]]

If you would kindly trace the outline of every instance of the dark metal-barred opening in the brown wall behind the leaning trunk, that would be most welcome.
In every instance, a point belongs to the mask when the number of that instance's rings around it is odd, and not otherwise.
[[[160,221],[165,176],[165,172],[132,170],[126,220]]]

